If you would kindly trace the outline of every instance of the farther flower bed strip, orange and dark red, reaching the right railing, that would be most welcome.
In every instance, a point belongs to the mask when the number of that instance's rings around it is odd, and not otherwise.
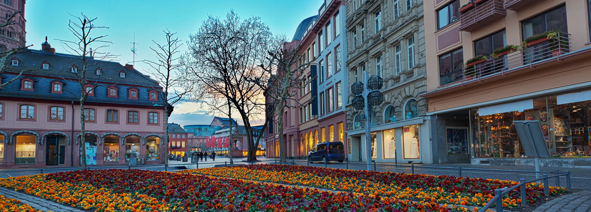
[[[374,196],[465,206],[484,206],[493,197],[495,189],[511,187],[518,183],[480,178],[353,171],[290,165],[245,165],[232,168],[190,169],[181,172],[304,185]],[[551,195],[560,195],[560,193],[564,192],[566,192],[564,188],[550,187]],[[543,197],[543,187],[540,184],[527,185],[529,204],[538,203]],[[508,196],[505,196],[503,201],[504,207],[519,207],[521,203],[519,191],[512,191]]]

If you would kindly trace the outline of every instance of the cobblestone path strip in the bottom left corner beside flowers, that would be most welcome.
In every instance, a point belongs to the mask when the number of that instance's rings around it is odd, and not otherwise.
[[[33,197],[31,195],[19,193],[18,191],[10,190],[8,188],[0,187],[0,194],[7,198],[14,198],[20,200],[22,203],[28,204],[29,206],[42,211],[53,211],[53,212],[66,212],[66,211],[80,211],[76,208],[64,206],[58,203],[54,203],[49,200],[42,198]]]

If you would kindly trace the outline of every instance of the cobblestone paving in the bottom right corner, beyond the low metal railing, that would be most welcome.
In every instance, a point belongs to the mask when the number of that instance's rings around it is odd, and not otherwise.
[[[533,212],[591,212],[591,192],[581,191],[563,195],[544,203]]]

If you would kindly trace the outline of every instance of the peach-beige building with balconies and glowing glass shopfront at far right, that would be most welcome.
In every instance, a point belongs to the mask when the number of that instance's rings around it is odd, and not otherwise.
[[[434,161],[532,164],[514,121],[537,120],[543,165],[591,166],[590,4],[424,2]]]

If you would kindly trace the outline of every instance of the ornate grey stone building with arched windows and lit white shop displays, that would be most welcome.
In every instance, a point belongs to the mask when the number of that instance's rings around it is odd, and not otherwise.
[[[371,146],[365,145],[364,110],[347,107],[349,161],[433,162],[425,115],[427,99],[426,46],[422,0],[347,1],[348,77],[352,86],[363,72],[384,80],[384,102],[372,106]],[[367,82],[363,82],[367,84]]]

